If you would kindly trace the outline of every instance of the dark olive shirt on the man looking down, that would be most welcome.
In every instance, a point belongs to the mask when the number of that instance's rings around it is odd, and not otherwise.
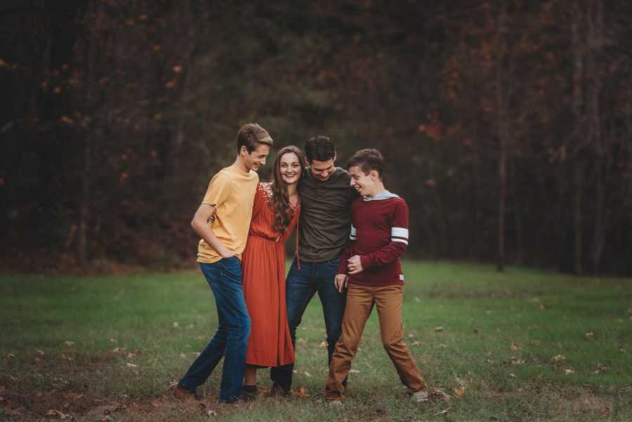
[[[347,171],[336,167],[327,180],[305,169],[298,185],[301,220],[299,257],[310,263],[338,258],[349,240],[351,203],[358,197]]]

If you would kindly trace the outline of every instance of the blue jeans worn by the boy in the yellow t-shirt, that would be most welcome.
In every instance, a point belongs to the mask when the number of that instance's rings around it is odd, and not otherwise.
[[[215,296],[218,327],[215,336],[180,380],[180,386],[195,393],[225,355],[220,402],[235,402],[242,395],[250,334],[250,317],[242,290],[242,263],[232,256],[212,264],[200,263],[199,267]]]

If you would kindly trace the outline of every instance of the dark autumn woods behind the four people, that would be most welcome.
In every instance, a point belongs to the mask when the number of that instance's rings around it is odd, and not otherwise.
[[[409,256],[632,274],[627,1],[7,1],[1,265],[189,263],[240,124],[382,150]],[[268,164],[266,173],[270,173]]]

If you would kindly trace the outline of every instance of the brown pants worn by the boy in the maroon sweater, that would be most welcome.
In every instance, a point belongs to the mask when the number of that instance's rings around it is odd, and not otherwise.
[[[399,285],[367,287],[349,284],[342,334],[336,343],[334,356],[331,357],[329,379],[325,387],[328,400],[340,400],[344,392],[342,382],[349,374],[351,360],[357,352],[364,324],[369,319],[374,304],[378,310],[382,344],[393,361],[400,380],[413,392],[426,388],[419,368],[404,344],[402,292],[403,286]]]

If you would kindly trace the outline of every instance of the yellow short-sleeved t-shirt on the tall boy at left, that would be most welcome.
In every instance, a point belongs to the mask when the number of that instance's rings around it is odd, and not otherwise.
[[[246,247],[252,204],[259,176],[230,166],[221,169],[209,183],[202,204],[215,206],[215,219],[209,223],[213,235],[237,258],[242,258]],[[222,257],[209,244],[200,239],[197,246],[197,262],[212,264]]]

